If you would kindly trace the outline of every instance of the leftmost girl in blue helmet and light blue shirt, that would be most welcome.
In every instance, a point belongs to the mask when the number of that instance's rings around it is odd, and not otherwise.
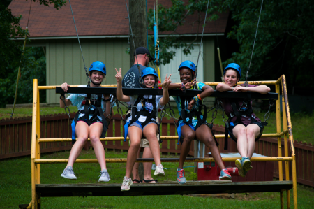
[[[79,87],[100,87],[105,75],[105,64],[100,61],[93,62],[89,67],[91,83],[89,83],[89,85],[80,85]],[[68,87],[70,87],[70,85],[66,82],[61,85],[64,92],[67,92]],[[96,158],[100,164],[100,178],[98,182],[109,181],[110,177],[106,168],[105,150],[103,144],[100,142],[100,137],[105,137],[105,132],[107,131],[108,123],[111,118],[112,107],[110,106],[110,95],[70,94],[66,99],[61,99],[60,97],[61,108],[65,106],[63,100],[66,106],[72,104],[73,106],[77,106],[79,111],[73,121],[75,127],[73,134],[77,135],[77,140],[71,149],[68,164],[61,174],[61,177],[70,180],[77,179],[73,171],[73,164],[80,155],[82,148],[87,143],[88,138],[90,138],[91,145],[93,145]]]

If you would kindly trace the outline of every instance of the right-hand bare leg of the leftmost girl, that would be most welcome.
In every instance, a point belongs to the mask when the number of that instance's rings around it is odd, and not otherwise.
[[[106,168],[106,159],[105,159],[105,149],[103,144],[100,142],[100,136],[103,132],[103,124],[100,122],[95,122],[89,126],[89,139],[91,140],[91,145],[94,148],[96,158],[100,165],[101,171]]]

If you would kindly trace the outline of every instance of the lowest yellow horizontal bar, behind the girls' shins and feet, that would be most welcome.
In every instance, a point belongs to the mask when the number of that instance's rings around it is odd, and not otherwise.
[[[240,157],[223,157],[223,161],[235,161],[241,159]],[[174,160],[163,160],[162,162],[179,162],[179,159]],[[189,160],[186,159],[186,162],[214,162],[215,160],[212,157],[208,158],[199,158]],[[251,161],[292,161],[292,157],[252,157]],[[67,163],[68,159],[35,159],[35,164],[62,164]],[[137,162],[154,162],[154,160],[138,160]],[[77,159],[75,163],[98,163],[97,159]],[[126,163],[126,158],[120,159],[106,159],[106,163]]]

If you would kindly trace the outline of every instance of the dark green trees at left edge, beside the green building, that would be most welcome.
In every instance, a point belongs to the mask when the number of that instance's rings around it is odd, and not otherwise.
[[[54,3],[56,9],[61,8],[66,3],[63,0],[39,0],[39,2],[45,6]],[[22,15],[14,17],[8,8],[9,4],[10,1],[8,0],[0,2],[0,107],[5,106],[6,103],[13,103],[15,80],[20,64],[22,73],[18,95],[19,103],[31,102],[32,91],[30,89],[32,89],[32,84],[30,78],[40,78],[41,85],[45,85],[43,50],[27,48],[22,55],[22,42],[16,41],[16,38],[25,37],[29,34],[20,26]],[[36,76],[34,77],[34,75]],[[45,97],[42,101],[45,101]]]

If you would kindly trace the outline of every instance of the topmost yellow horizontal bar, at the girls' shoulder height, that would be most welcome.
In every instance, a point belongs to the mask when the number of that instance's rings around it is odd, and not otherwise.
[[[279,78],[278,80],[281,81],[281,78]],[[248,81],[248,84],[252,84],[252,85],[276,85],[276,83],[278,82],[278,80],[266,80],[266,81]],[[221,82],[204,82],[204,84],[206,85],[210,85],[210,86],[216,86],[218,85],[218,83]],[[243,84],[244,81],[240,81],[237,82],[237,84]],[[70,85],[71,87],[78,87],[78,85]],[[56,89],[56,87],[61,87],[61,86],[38,86],[39,90],[51,90],[51,89]],[[117,87],[116,84],[107,84],[107,85],[101,85],[101,87],[107,87],[107,88],[115,88]],[[158,85],[158,87],[162,87],[162,85]]]

